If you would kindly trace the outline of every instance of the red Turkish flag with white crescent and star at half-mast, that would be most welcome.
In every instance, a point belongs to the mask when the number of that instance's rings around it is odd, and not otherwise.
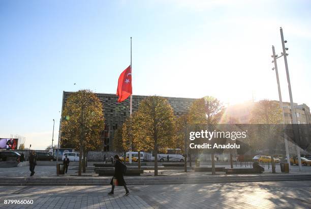
[[[117,96],[118,102],[126,100],[132,94],[132,69],[131,65],[119,76]]]

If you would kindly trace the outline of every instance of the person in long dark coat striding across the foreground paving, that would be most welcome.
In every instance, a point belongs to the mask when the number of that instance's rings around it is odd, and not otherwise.
[[[130,194],[127,184],[123,178],[123,173],[126,172],[127,166],[124,165],[123,163],[120,162],[119,160],[119,155],[114,155],[114,160],[115,160],[115,165],[114,165],[114,175],[110,181],[110,184],[112,185],[111,187],[111,192],[109,192],[109,195],[113,195],[114,193],[114,187],[115,186],[123,186],[124,189],[126,190],[126,196]]]

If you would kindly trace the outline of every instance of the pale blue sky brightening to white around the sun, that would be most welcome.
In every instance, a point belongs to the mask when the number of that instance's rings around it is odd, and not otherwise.
[[[57,142],[63,91],[278,99],[272,45],[283,28],[294,102],[311,106],[310,1],[0,1],[0,138]],[[284,59],[277,60],[289,101]],[[76,85],[74,85],[76,84]]]

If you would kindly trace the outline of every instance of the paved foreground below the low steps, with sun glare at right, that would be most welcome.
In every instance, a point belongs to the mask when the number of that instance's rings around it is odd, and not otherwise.
[[[4,186],[1,208],[310,208],[311,181],[129,186]],[[4,204],[5,200],[33,204]]]

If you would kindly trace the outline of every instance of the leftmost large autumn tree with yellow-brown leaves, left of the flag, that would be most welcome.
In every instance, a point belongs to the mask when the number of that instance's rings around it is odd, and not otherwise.
[[[79,176],[82,155],[85,159],[88,150],[97,149],[102,143],[104,120],[102,102],[90,90],[79,90],[68,97],[62,115],[60,143],[80,150]]]

